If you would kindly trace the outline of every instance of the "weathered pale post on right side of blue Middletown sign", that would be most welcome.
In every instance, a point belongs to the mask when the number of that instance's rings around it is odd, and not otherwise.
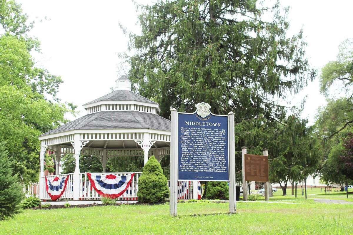
[[[228,148],[229,148],[229,212],[237,211],[235,192],[235,139],[234,139],[234,113],[228,113]]]

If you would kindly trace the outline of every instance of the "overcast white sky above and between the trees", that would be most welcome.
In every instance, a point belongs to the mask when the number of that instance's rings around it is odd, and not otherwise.
[[[79,105],[105,95],[114,86],[117,76],[117,53],[127,51],[127,38],[121,32],[120,21],[129,30],[139,33],[137,13],[129,0],[78,1],[78,0],[17,0],[31,19],[48,17],[36,23],[30,34],[41,41],[42,54],[35,55],[37,66],[61,75],[61,101]],[[137,0],[148,3],[150,0]],[[291,6],[289,35],[301,27],[308,43],[307,57],[312,67],[320,69],[335,60],[337,46],[353,37],[350,0],[282,0],[282,6]],[[303,117],[310,123],[319,105],[325,104],[319,94],[318,79],[310,83],[293,99],[293,104],[308,95]],[[71,118],[72,119],[72,118]]]

